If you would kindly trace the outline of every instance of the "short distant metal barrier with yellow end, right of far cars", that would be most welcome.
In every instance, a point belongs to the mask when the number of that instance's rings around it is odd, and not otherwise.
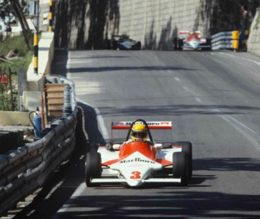
[[[220,32],[211,36],[211,49],[238,49],[239,31]]]

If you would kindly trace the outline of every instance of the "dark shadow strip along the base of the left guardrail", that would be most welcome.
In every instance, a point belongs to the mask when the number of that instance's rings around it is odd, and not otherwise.
[[[31,204],[27,205],[14,218],[50,218],[68,201],[79,185],[84,183],[86,152],[90,149],[88,137],[98,138],[101,141],[103,138],[97,131],[93,109],[88,106],[82,107],[84,111],[79,107],[77,115],[76,146],[70,160],[53,172]],[[83,129],[86,124],[91,127],[86,130],[87,133]]]

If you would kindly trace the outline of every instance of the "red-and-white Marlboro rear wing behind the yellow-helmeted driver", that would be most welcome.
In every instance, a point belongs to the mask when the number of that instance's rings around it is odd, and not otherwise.
[[[142,123],[142,122],[137,122]],[[171,121],[146,122],[149,129],[172,129]],[[129,129],[132,122],[112,122],[111,129]]]

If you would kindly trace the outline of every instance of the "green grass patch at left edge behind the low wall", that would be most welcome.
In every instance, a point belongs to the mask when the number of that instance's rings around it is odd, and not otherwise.
[[[0,73],[9,73],[9,68],[12,73],[17,73],[18,69],[23,67],[26,70],[29,68],[29,64],[34,56],[34,47],[32,46],[29,50],[27,44],[25,43],[25,39],[23,36],[14,36],[14,38],[10,38],[0,43],[0,49],[3,55],[7,55],[8,52],[12,49],[17,49],[17,56],[21,57],[21,60],[12,61],[13,64],[9,64],[0,60]],[[13,92],[17,92],[17,75],[12,74],[12,89]],[[10,94],[8,94],[8,90],[10,91],[10,86],[5,86],[0,83],[0,110],[10,111],[11,110],[11,100]],[[16,99],[15,103],[17,103],[18,96],[14,94],[14,98]],[[12,100],[14,101],[14,100]],[[15,109],[16,110],[16,109]]]

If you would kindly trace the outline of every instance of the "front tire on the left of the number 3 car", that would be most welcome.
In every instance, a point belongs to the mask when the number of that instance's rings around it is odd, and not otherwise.
[[[93,178],[101,177],[101,154],[96,151],[88,152],[85,163],[85,181],[87,187],[92,187],[90,182]]]

